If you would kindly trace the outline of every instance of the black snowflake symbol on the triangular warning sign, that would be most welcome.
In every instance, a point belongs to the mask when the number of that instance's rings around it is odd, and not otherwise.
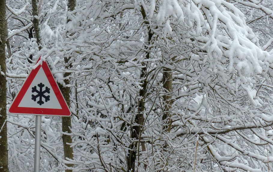
[[[39,105],[42,105],[42,104],[44,104],[44,101],[42,101],[42,97],[44,97],[45,102],[47,102],[47,101],[50,100],[49,99],[50,98],[49,95],[48,96],[44,95],[45,93],[50,93],[50,88],[45,87],[45,90],[43,91],[43,87],[44,87],[43,83],[38,84],[38,87],[40,87],[40,90],[37,90],[36,86],[32,87],[32,93],[36,92],[37,94],[36,95],[32,94],[31,95],[32,96],[31,99],[34,100],[34,102],[36,102],[36,99],[39,97],[39,101],[37,103]]]

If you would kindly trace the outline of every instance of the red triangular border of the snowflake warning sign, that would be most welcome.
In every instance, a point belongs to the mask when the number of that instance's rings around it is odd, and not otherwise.
[[[37,60],[35,64],[40,61],[41,57]],[[26,91],[29,89],[32,81],[34,80],[35,76],[37,75],[39,69],[42,67],[44,70],[45,75],[52,87],[53,92],[56,95],[57,100],[61,105],[61,109],[51,109],[51,108],[29,108],[29,107],[18,107],[21,100],[26,94]],[[17,93],[16,97],[14,98],[13,102],[11,103],[10,108],[8,109],[10,114],[29,114],[29,115],[55,115],[55,116],[70,116],[71,112],[68,108],[67,103],[61,93],[60,88],[58,87],[51,70],[46,61],[42,62],[42,65],[38,65],[35,69],[32,69],[27,76],[23,86]]]

